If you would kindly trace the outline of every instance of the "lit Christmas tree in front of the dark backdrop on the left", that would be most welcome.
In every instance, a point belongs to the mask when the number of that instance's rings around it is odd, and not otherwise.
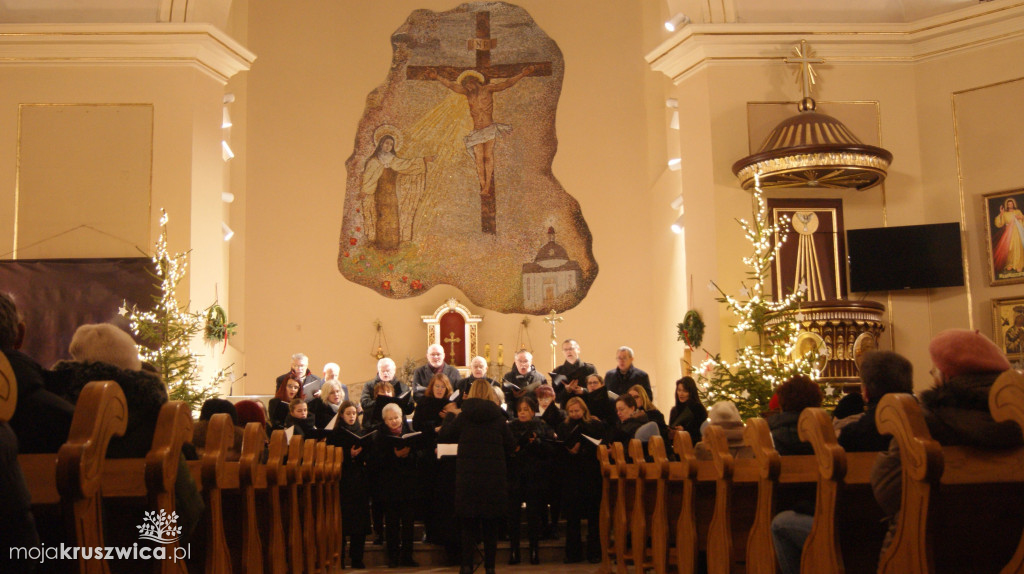
[[[153,264],[154,278],[160,281],[155,307],[143,311],[133,304],[128,309],[129,324],[142,342],[142,360],[160,372],[170,399],[184,401],[196,411],[204,401],[217,396],[226,373],[224,369],[218,371],[209,383],[200,380],[199,355],[191,351],[190,344],[204,332],[206,313],[194,313],[187,303],[178,304],[174,292],[188,268],[188,254],[167,251],[167,213],[163,210]]]

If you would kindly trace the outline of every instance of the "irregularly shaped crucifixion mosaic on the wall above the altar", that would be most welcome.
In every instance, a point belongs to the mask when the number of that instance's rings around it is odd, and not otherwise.
[[[345,164],[341,273],[395,299],[446,283],[505,313],[577,306],[598,267],[551,171],[558,46],[503,2],[417,10],[391,45]]]

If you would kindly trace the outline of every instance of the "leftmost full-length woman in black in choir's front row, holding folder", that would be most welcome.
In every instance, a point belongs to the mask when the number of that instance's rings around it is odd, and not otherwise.
[[[362,570],[362,551],[370,533],[370,479],[367,461],[370,459],[369,445],[360,446],[364,436],[358,422],[358,407],[352,401],[345,401],[338,407],[338,422],[328,435],[328,444],[345,449],[341,467],[341,564],[345,565],[345,537],[349,542],[352,568]]]

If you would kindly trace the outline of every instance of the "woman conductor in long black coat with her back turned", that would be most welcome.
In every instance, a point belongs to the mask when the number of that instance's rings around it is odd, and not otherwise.
[[[449,413],[439,442],[458,443],[455,511],[462,523],[461,574],[473,572],[476,534],[483,539],[483,568],[495,571],[498,523],[508,512],[508,457],[515,446],[505,411],[486,381],[474,381],[462,412]]]

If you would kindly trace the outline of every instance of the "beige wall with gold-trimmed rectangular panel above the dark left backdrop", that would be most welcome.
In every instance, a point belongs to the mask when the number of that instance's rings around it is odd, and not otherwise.
[[[0,137],[0,178],[8,182],[0,191],[0,229],[4,230],[0,252],[18,247],[17,257],[23,259],[137,257],[139,250],[152,253],[159,234],[160,208],[164,208],[170,217],[170,250],[191,251],[189,275],[177,292],[179,301],[205,307],[214,300],[215,285],[219,285],[222,302],[226,299],[227,252],[220,236],[223,86],[219,81],[185,67],[88,64],[0,67],[0,82],[5,86],[0,93],[0,134],[4,134]],[[27,106],[44,109],[45,118],[19,125],[24,120],[19,112]],[[70,119],[56,120],[58,106],[77,112]],[[79,131],[89,124],[74,121],[83,109],[106,115],[115,109],[133,111],[130,120],[108,123],[101,134],[94,135],[126,138],[123,143],[137,144],[142,151],[122,156],[114,143],[99,150],[83,149],[89,141]],[[67,129],[61,129],[62,124]],[[51,178],[50,183],[88,182],[88,188],[73,189],[71,196],[66,195],[67,187],[52,190],[52,196],[45,189],[30,189],[32,196],[20,198],[20,213],[15,214],[19,137],[31,144],[33,154],[46,146],[54,152],[78,153],[78,163],[66,167],[81,177]],[[148,173],[139,179],[136,170]],[[104,185],[106,178],[112,179],[109,185]],[[66,228],[89,225],[96,230],[77,229],[53,242],[31,246],[45,236],[23,227],[22,245],[14,246],[15,217],[45,221],[54,210],[61,214],[60,225]],[[62,230],[54,227],[47,232],[53,235]],[[205,376],[212,376],[223,357],[202,344],[196,350],[207,355]]]

